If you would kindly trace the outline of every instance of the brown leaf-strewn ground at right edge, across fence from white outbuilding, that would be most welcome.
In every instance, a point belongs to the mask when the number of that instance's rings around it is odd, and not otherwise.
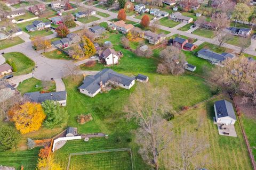
[[[241,96],[236,96],[234,98],[235,103],[237,104],[238,108],[240,109],[240,111],[249,118],[253,118],[254,120],[256,120],[256,107],[252,106],[252,105],[248,105],[248,104],[243,104],[243,100]]]

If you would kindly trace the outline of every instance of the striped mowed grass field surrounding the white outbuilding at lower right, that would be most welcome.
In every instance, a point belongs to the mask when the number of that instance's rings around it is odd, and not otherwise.
[[[221,96],[219,99],[223,99],[223,97]],[[204,168],[216,170],[252,169],[238,121],[235,123],[237,138],[219,135],[217,125],[213,124],[215,100],[217,99],[177,115],[174,120],[170,121],[173,124],[174,141],[161,154],[159,162],[162,167],[165,167],[163,169],[170,169],[172,160],[181,161],[178,143],[181,142],[180,137],[185,131],[188,135],[195,135],[197,139],[205,138],[205,143],[210,145],[191,160],[193,163],[200,165],[203,162],[206,163]],[[201,127],[196,131],[200,119]]]

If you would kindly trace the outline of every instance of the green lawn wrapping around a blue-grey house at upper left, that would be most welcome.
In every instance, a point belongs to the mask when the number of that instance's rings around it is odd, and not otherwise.
[[[38,19],[36,19],[36,20],[38,20]],[[40,19],[40,20],[43,21],[43,22],[49,22],[49,20],[44,19],[44,18]],[[45,29],[45,30],[41,30],[41,31],[28,32],[27,29],[26,29],[26,26],[32,24],[34,21],[35,20],[27,21],[27,22],[19,23],[17,25],[18,25],[19,28],[21,28],[22,31],[28,33],[30,35],[30,38],[33,37],[33,36],[49,36],[53,33],[49,29]]]

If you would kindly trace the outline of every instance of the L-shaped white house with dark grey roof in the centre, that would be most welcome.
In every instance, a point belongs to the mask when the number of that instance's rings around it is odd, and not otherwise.
[[[111,69],[103,69],[95,75],[85,77],[83,84],[78,87],[78,89],[82,94],[94,97],[108,86],[109,83],[130,89],[134,85],[135,79],[127,75],[116,73]]]

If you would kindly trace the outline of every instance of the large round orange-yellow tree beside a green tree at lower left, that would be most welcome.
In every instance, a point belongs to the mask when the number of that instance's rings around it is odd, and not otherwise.
[[[38,130],[46,115],[41,104],[27,102],[14,112],[12,120],[21,134]]]

